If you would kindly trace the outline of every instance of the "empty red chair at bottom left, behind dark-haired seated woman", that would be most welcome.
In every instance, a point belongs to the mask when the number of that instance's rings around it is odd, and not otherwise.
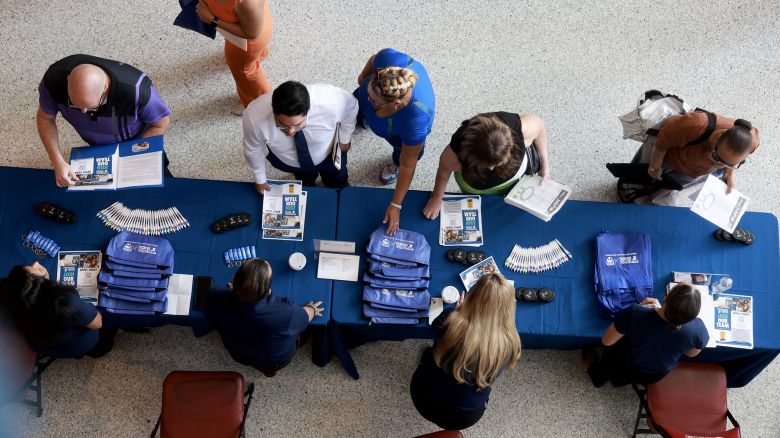
[[[236,438],[252,403],[254,383],[232,371],[173,371],[163,381],[160,418],[152,437]],[[246,400],[246,404],[244,403]]]

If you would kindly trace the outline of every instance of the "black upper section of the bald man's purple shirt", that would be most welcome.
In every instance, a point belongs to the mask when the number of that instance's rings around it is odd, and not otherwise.
[[[139,109],[149,102],[152,81],[148,76],[143,78],[139,86],[136,102],[135,85],[144,74],[141,70],[119,61],[97,56],[71,55],[49,66],[46,74],[43,75],[43,85],[58,104],[68,104],[68,75],[81,64],[96,65],[111,77],[106,104],[101,106],[93,117],[136,117]]]

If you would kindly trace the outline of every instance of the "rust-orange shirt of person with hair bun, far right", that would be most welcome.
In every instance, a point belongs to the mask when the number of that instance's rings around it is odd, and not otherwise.
[[[707,129],[707,114],[696,111],[673,116],[661,126],[655,147],[666,151],[665,164],[696,178],[723,167],[712,160],[712,151],[721,134],[732,126],[734,126],[734,119],[715,114],[715,131],[710,138],[699,144],[687,146],[689,142],[704,134]],[[753,128],[751,132],[753,146],[750,153],[752,154],[758,148],[761,138],[758,129]]]

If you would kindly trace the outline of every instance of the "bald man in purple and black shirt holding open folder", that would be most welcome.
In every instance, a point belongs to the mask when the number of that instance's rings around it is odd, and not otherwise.
[[[63,58],[46,70],[38,94],[38,134],[59,187],[73,185],[77,178],[60,153],[57,113],[89,145],[162,135],[170,123],[171,110],[152,80],[137,68],[110,59]]]

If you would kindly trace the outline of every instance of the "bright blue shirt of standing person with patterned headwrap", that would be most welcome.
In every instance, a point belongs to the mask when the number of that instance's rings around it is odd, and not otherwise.
[[[384,139],[400,137],[403,144],[416,146],[425,143],[426,137],[433,126],[433,116],[436,99],[433,86],[425,67],[412,57],[395,49],[383,49],[374,57],[374,68],[403,67],[414,71],[417,82],[412,89],[412,100],[409,104],[390,117],[377,117],[373,106],[368,100],[368,83],[372,76],[367,77],[358,89],[358,102],[365,118],[366,126]]]

